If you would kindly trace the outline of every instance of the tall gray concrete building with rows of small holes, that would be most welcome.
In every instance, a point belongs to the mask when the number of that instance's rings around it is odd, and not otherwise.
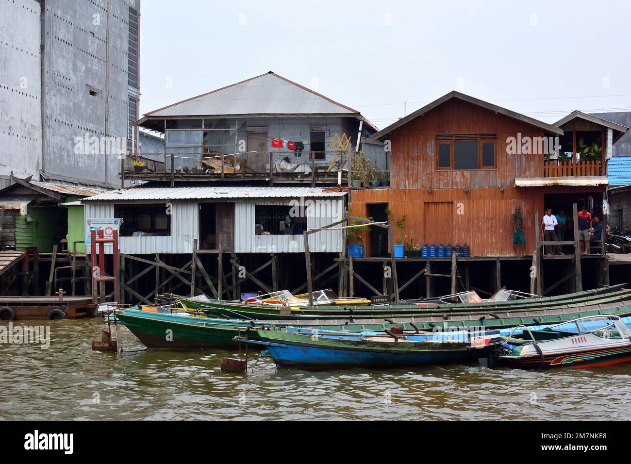
[[[136,151],[140,0],[0,0],[0,187],[119,187]]]

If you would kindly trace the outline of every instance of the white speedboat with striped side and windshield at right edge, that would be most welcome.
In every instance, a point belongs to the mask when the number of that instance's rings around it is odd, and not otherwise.
[[[609,366],[631,361],[631,329],[618,316],[572,319],[503,337],[500,364],[521,369]]]

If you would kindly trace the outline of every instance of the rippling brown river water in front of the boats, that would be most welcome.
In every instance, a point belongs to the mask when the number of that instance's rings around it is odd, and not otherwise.
[[[13,324],[49,325],[50,347],[0,345],[1,420],[631,419],[631,364],[303,371],[251,352],[247,374],[224,374],[238,348],[117,355],[91,350],[97,318]],[[119,330],[124,350],[143,347]]]

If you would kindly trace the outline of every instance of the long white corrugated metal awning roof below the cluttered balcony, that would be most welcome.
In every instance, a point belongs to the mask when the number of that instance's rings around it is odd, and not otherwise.
[[[345,196],[346,191],[327,192],[323,187],[129,187],[85,200],[132,201],[151,199],[310,198]]]

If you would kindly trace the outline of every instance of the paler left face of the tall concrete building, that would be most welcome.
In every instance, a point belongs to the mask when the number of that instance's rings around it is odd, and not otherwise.
[[[0,2],[0,188],[42,160],[40,4]]]

